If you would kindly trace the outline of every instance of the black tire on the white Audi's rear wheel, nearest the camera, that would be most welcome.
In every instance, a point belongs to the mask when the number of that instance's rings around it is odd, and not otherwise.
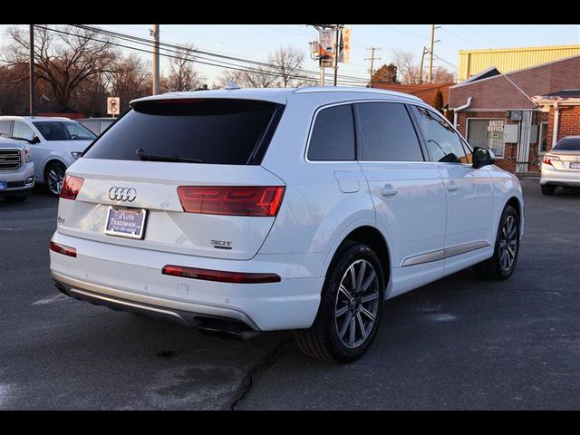
[[[364,264],[364,268],[362,268],[362,264]],[[348,330],[349,338],[353,339],[353,335],[350,335],[350,328],[353,325],[352,322],[354,322],[354,331],[356,332],[358,329],[359,335],[362,335],[360,339],[362,340],[361,343],[349,347],[339,337],[338,324],[341,322],[339,320],[341,317],[335,316],[335,314],[337,313],[336,305],[339,304],[339,299],[344,295],[343,293],[339,295],[339,286],[341,283],[345,283],[343,279],[348,279],[346,275],[350,272],[351,266],[354,267],[354,273],[357,265],[359,267],[359,275],[361,275],[362,271],[362,278],[359,283],[364,281],[362,284],[365,284],[368,281],[370,284],[368,285],[368,290],[362,290],[364,285],[359,285],[358,293],[353,284],[353,299],[359,301],[358,308],[352,306],[357,304],[355,301],[354,304],[343,304],[341,309],[338,310],[347,310],[344,314],[340,314],[340,316],[344,315],[341,329],[343,331]],[[367,265],[371,265],[373,270]],[[372,272],[376,275],[376,281],[372,277]],[[349,277],[351,276],[349,275]],[[354,278],[351,281],[353,282]],[[371,345],[381,324],[382,302],[385,288],[384,282],[384,272],[379,256],[370,247],[362,243],[345,242],[334,255],[331,266],[328,268],[321,294],[320,306],[318,308],[318,314],[316,314],[316,318],[314,319],[314,324],[309,329],[300,330],[295,333],[296,342],[300,349],[308,356],[325,362],[346,363],[359,359]],[[363,301],[363,299],[369,297],[372,297],[372,300],[367,302]],[[366,307],[363,304],[367,304]],[[376,311],[373,320],[362,311],[356,312],[357,309],[362,310],[363,308],[367,308],[365,310],[367,313],[369,311],[373,313]],[[353,314],[352,311],[356,312],[356,314]],[[364,320],[361,321],[362,318]],[[365,321],[367,322],[366,326],[364,324]],[[350,326],[345,326],[347,323]],[[343,333],[344,336],[345,333]]]

